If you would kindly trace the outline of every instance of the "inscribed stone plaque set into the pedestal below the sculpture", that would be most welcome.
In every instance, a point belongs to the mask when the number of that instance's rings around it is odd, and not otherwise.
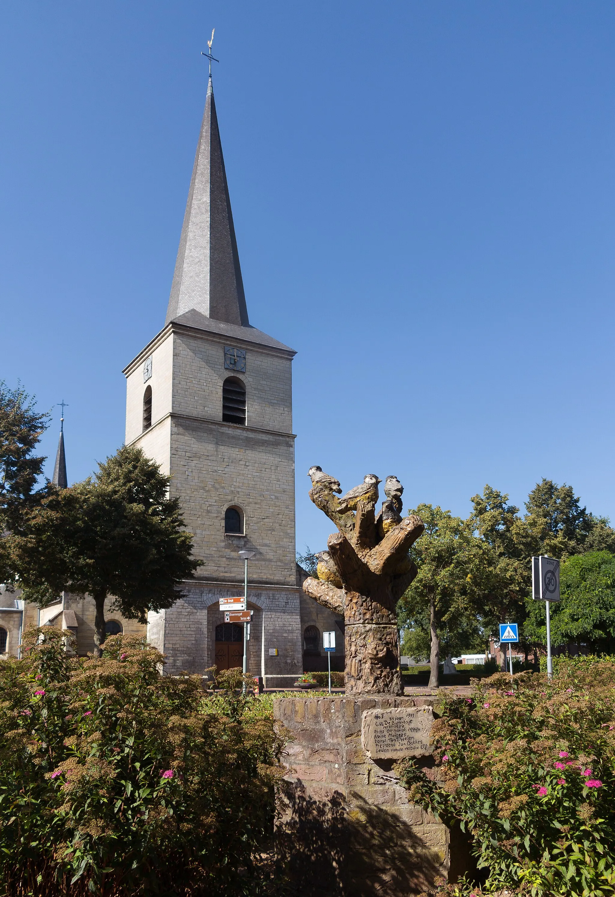
[[[434,721],[430,707],[395,707],[365,710],[361,744],[372,760],[402,760],[433,753],[429,744]]]

